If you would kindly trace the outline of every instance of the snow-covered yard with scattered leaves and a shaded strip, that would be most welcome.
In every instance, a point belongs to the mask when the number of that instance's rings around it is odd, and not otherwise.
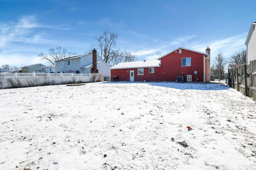
[[[0,169],[256,169],[256,103],[224,84],[99,82],[0,99]]]

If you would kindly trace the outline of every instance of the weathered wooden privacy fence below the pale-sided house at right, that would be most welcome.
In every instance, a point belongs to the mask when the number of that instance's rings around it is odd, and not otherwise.
[[[228,85],[256,100],[256,60],[228,70]]]

